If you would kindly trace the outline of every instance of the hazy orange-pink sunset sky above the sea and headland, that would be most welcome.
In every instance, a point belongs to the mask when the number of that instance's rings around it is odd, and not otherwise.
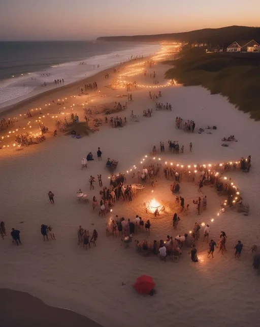
[[[0,40],[89,40],[260,25],[260,0],[0,0]]]

